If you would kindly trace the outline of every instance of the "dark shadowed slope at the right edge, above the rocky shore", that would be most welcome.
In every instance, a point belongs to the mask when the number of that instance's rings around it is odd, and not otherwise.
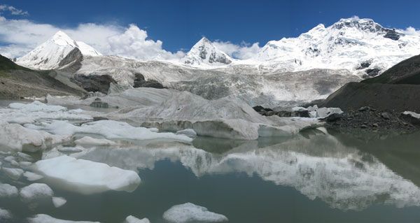
[[[396,64],[375,78],[344,85],[321,106],[342,110],[373,106],[379,110],[420,113],[420,55]]]

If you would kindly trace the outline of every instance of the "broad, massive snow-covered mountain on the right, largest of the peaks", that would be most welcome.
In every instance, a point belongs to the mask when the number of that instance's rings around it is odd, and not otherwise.
[[[420,54],[420,37],[351,17],[323,24],[297,38],[269,41],[251,62],[278,71],[348,69],[377,75],[403,59]]]

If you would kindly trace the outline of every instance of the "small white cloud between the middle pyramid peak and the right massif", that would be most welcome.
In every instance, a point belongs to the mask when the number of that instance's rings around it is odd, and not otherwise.
[[[260,50],[259,43],[249,44],[242,42],[240,45],[237,45],[234,43],[230,43],[229,41],[214,41],[213,44],[219,50],[222,50],[230,57],[236,59],[251,59],[252,57],[255,57],[258,54],[258,51]]]

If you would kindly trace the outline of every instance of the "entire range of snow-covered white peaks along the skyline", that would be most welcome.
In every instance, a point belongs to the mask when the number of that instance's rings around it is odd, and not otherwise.
[[[58,69],[59,62],[74,48],[82,55],[101,56],[91,46],[73,41],[62,31],[52,36],[17,63],[32,69]],[[297,38],[269,41],[251,59],[235,59],[202,38],[179,61],[172,64],[198,69],[250,66],[272,72],[310,69],[347,69],[359,76],[374,76],[420,52],[420,37],[382,27],[370,19],[339,20],[330,27],[323,24]]]

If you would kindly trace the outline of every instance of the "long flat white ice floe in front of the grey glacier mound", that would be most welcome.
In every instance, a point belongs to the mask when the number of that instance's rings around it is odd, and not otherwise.
[[[44,123],[43,126],[28,124],[27,127],[33,129],[43,129],[59,136],[71,136],[73,134],[96,134],[104,136],[108,139],[169,139],[183,142],[193,141],[193,139],[189,138],[188,136],[176,135],[173,133],[157,133],[144,127],[133,127],[126,122],[118,122],[113,120],[87,122],[80,126],[73,125],[66,121],[55,120],[51,123]]]

